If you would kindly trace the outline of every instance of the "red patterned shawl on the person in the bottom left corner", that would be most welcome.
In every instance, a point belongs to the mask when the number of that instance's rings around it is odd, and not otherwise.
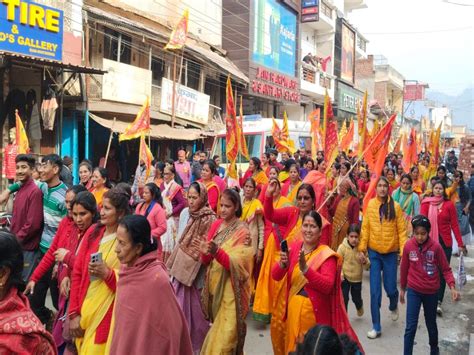
[[[15,287],[0,301],[0,353],[57,354],[53,337],[30,309],[28,299]]]

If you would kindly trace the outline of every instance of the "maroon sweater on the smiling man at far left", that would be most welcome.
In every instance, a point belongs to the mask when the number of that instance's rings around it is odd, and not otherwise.
[[[28,179],[16,193],[10,231],[23,250],[33,251],[38,249],[42,229],[43,193],[33,179]]]

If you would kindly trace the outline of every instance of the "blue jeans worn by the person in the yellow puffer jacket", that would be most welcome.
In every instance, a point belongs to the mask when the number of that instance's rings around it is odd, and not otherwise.
[[[370,259],[370,313],[372,325],[377,332],[382,331],[380,325],[380,307],[382,305],[383,287],[390,299],[388,309],[394,311],[398,307],[397,268],[398,253],[380,254],[369,249]],[[381,274],[382,273],[382,277]]]

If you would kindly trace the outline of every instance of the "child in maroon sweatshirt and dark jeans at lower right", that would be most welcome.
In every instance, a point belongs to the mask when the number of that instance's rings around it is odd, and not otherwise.
[[[438,305],[438,289],[440,274],[451,289],[453,301],[459,299],[454,276],[441,245],[429,237],[431,223],[422,215],[413,217],[413,238],[408,240],[403,249],[400,265],[400,303],[405,303],[407,294],[407,318],[405,328],[405,355],[413,353],[418,316],[421,305],[425,313],[428,328],[431,354],[439,354],[438,327],[436,325],[436,306]]]

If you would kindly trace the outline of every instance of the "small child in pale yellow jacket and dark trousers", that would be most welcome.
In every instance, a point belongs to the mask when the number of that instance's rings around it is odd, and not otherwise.
[[[366,270],[370,267],[369,258],[365,258],[363,264],[359,262],[357,246],[359,245],[360,227],[358,224],[351,224],[347,231],[347,237],[344,238],[337,253],[344,259],[342,263],[342,294],[344,296],[344,303],[349,304],[349,291],[352,296],[352,302],[357,309],[357,315],[362,317],[364,315],[364,305],[362,302],[362,273],[363,268]]]

